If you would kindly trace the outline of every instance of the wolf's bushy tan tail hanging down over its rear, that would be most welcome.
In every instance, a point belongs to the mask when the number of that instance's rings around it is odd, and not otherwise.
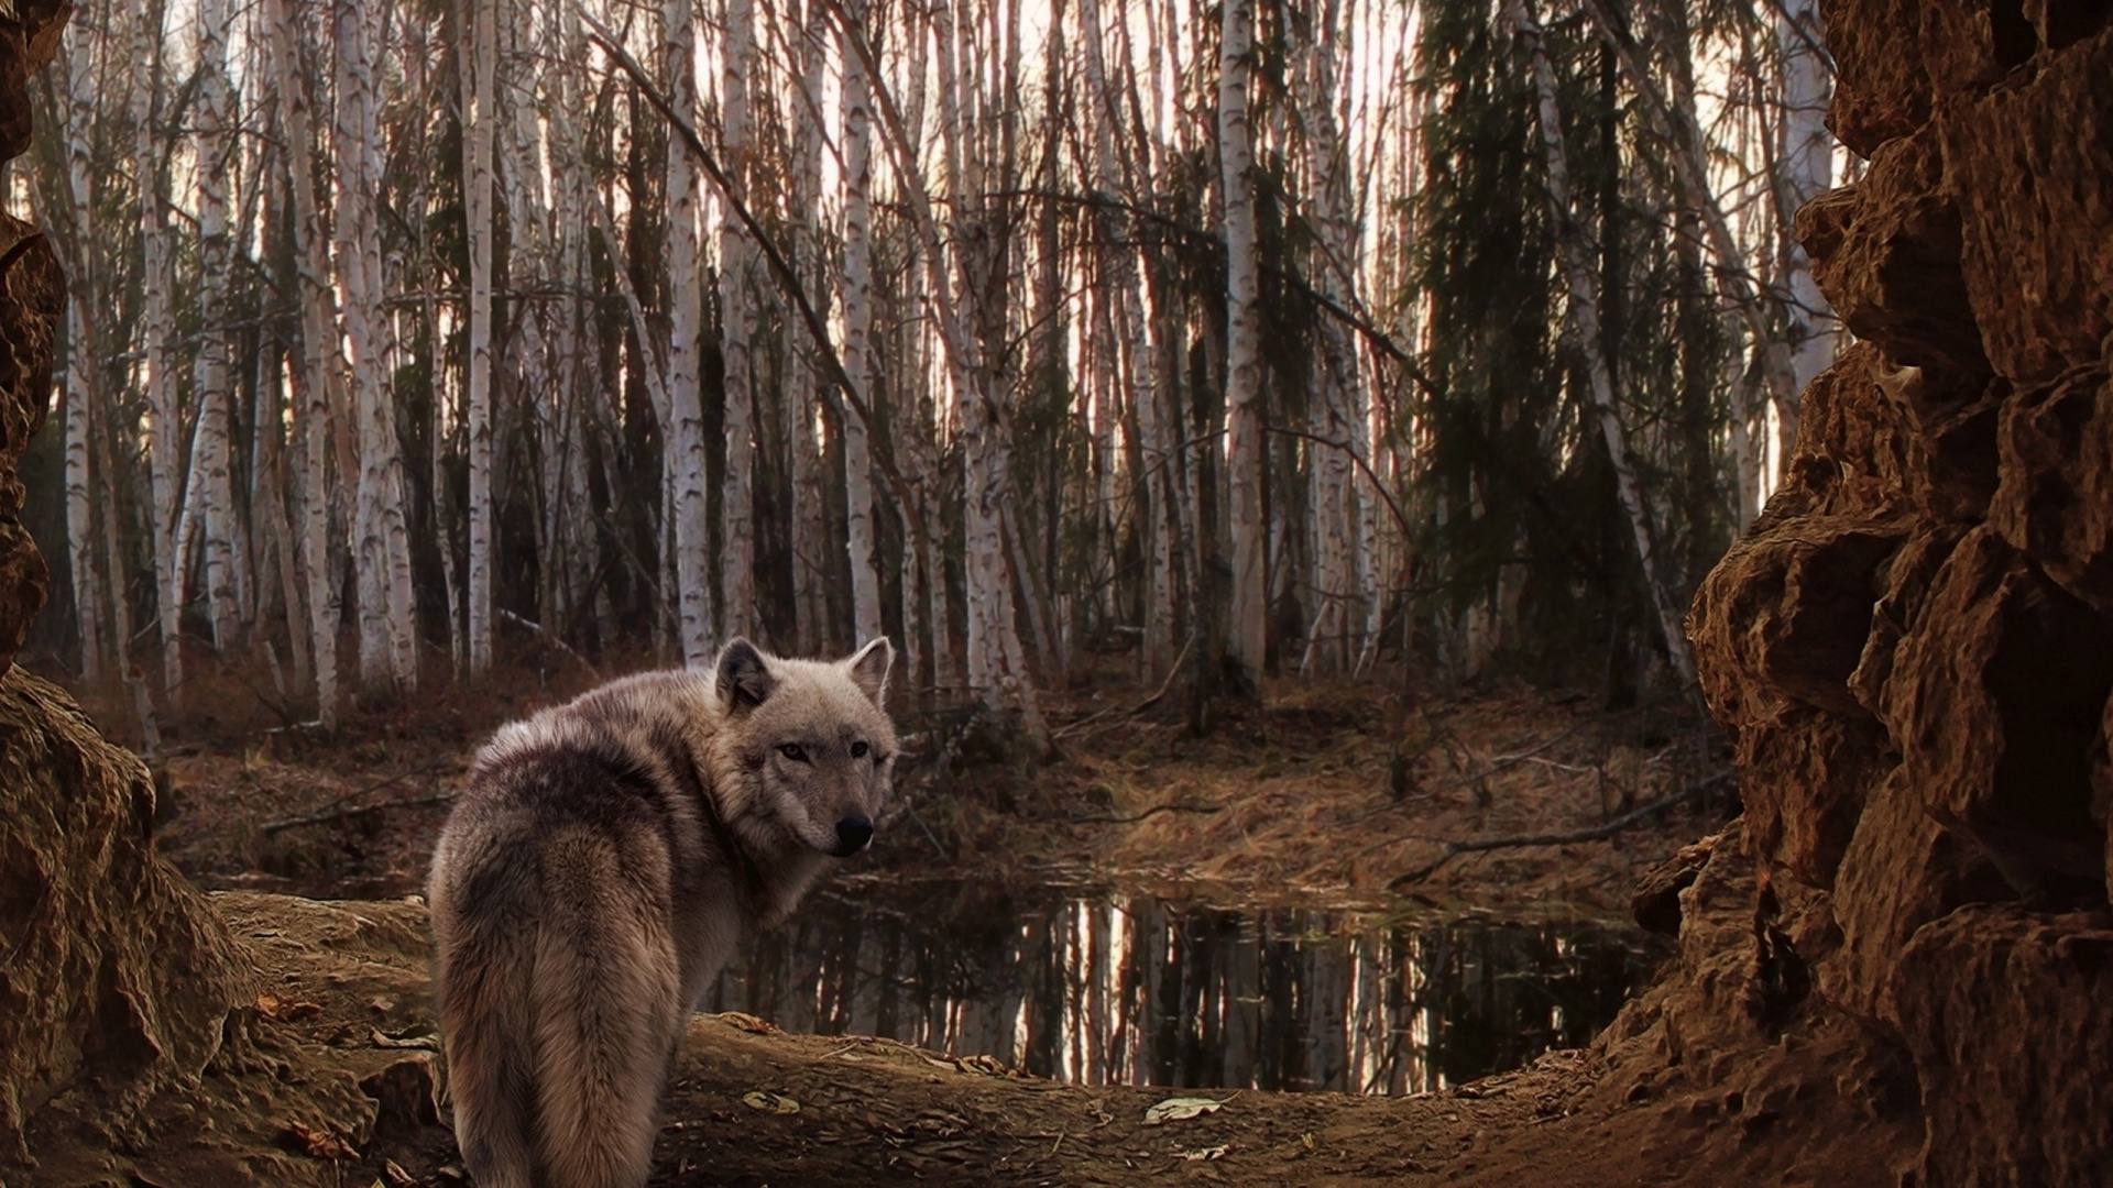
[[[604,833],[543,843],[549,903],[530,996],[549,1188],[636,1188],[651,1171],[685,1021],[666,888],[657,846],[623,846],[619,860]]]

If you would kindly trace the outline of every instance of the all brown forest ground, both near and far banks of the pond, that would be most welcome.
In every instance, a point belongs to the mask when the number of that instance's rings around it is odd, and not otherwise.
[[[114,1133],[89,1108],[46,1110],[32,1148],[49,1152],[49,1182],[110,1182],[118,1167],[129,1184],[171,1188],[465,1182],[435,1110],[446,1093],[416,892],[480,738],[560,693],[475,710],[435,698],[366,714],[330,744],[239,723],[220,742],[171,738],[161,846],[220,892],[258,955],[260,994],[167,1114]],[[1678,706],[1610,714],[1523,687],[1403,704],[1369,685],[1287,683],[1259,706],[1223,706],[1192,738],[1179,708],[1139,708],[1147,695],[1052,698],[1059,755],[1044,759],[961,723],[904,723],[917,755],[898,778],[906,812],[864,858],[868,877],[1612,920],[1640,873],[1735,812],[1722,744]],[[1591,831],[1667,797],[1684,799],[1610,837],[1469,852],[1388,890],[1452,841]],[[1435,1095],[1183,1093],[1059,1084],[991,1057],[699,1015],[653,1184],[1817,1182],[1796,1148],[1747,1141],[1781,1103],[1756,1122],[1737,1093],[1661,1093],[1602,1048]],[[1147,1108],[1175,1095],[1217,1106],[1147,1125]],[[1697,1144],[1722,1158],[1690,1161]],[[1821,1171],[1834,1175],[1855,1148],[1830,1150]]]

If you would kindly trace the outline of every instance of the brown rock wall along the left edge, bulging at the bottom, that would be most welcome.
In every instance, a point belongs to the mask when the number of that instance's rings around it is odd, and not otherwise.
[[[30,146],[30,76],[68,13],[0,13],[0,159]],[[44,237],[0,214],[0,1182],[36,1167],[25,1135],[59,1097],[93,1097],[82,1116],[104,1150],[137,1135],[148,1101],[222,1048],[243,998],[226,924],[154,854],[146,765],[11,666],[51,588],[15,463],[44,423],[63,296]]]

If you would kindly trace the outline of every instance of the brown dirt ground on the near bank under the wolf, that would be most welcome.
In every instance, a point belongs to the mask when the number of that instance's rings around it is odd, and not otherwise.
[[[93,1087],[55,1101],[30,1135],[36,1184],[463,1184],[431,1051],[425,909],[254,892],[216,903],[260,974],[226,1048],[197,1087],[146,1106]],[[1625,1015],[1627,1029],[1648,1029],[1650,1010]],[[1885,1182],[1902,1135],[1876,1120],[1845,1135],[1826,1110],[1847,1076],[1828,1044],[1845,1040],[1792,1034],[1796,1048],[1720,1051],[1695,1078],[1623,1038],[1439,1095],[1200,1093],[1221,1108],[1147,1127],[1166,1091],[1054,1084],[991,1059],[706,1015],[674,1070],[653,1184]],[[1766,1101],[1722,1089],[1737,1068],[1773,1070],[1794,1051],[1819,1072]]]

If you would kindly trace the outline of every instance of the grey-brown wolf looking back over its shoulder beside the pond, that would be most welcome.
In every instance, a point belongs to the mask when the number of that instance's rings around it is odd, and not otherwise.
[[[748,641],[507,725],[433,850],[454,1135],[480,1188],[636,1188],[697,998],[890,793],[894,647]]]

